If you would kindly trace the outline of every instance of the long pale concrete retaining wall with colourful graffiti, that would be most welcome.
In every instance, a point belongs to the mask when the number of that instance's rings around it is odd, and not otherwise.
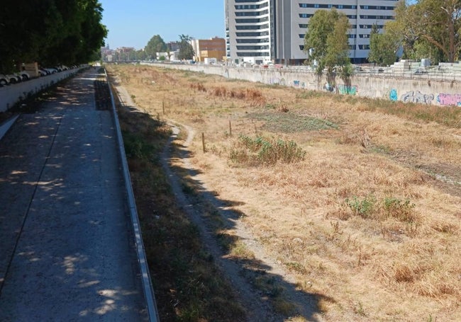
[[[360,73],[352,76],[346,86],[337,77],[335,86],[326,79],[318,79],[303,67],[243,68],[206,64],[150,64],[157,67],[199,71],[228,79],[242,79],[263,84],[279,84],[314,91],[333,91],[341,94],[383,98],[404,102],[426,103],[442,106],[461,106],[461,74],[422,74],[411,72]]]

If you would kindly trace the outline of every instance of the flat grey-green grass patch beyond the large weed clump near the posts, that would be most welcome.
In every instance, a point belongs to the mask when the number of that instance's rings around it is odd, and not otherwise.
[[[265,121],[264,128],[277,133],[338,130],[339,128],[338,125],[328,120],[295,113],[250,113],[248,117]]]

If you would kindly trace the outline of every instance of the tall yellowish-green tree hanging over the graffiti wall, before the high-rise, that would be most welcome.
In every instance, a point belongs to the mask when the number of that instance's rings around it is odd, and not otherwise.
[[[347,34],[349,28],[349,20],[344,13],[339,13],[335,8],[330,11],[318,10],[309,21],[304,35],[304,50],[309,54],[309,64],[316,67],[318,76],[326,69],[328,82],[333,84],[336,67],[345,79],[352,71]]]

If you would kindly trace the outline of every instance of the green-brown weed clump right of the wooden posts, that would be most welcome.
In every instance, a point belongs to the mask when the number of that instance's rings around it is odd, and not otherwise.
[[[234,148],[230,151],[229,159],[234,163],[251,166],[274,165],[277,162],[292,163],[304,160],[306,151],[294,141],[265,138],[257,136],[254,139],[247,135],[240,135]]]

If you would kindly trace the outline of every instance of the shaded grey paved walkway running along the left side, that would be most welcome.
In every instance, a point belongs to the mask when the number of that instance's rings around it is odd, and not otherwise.
[[[109,110],[77,75],[0,140],[0,321],[145,321]]]

